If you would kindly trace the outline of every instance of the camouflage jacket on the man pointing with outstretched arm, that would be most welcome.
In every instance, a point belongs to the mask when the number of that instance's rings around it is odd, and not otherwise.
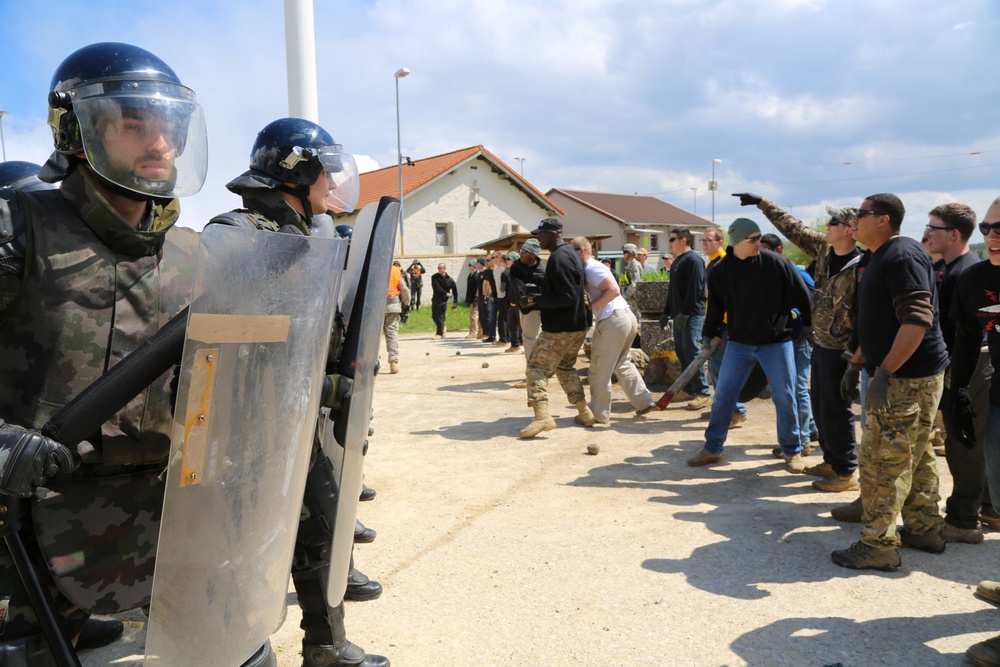
[[[812,326],[816,344],[830,350],[846,350],[854,331],[854,300],[858,288],[860,255],[850,260],[836,275],[830,275],[833,246],[823,234],[809,229],[774,202],[758,204],[788,240],[816,260],[816,286],[813,289]]]

